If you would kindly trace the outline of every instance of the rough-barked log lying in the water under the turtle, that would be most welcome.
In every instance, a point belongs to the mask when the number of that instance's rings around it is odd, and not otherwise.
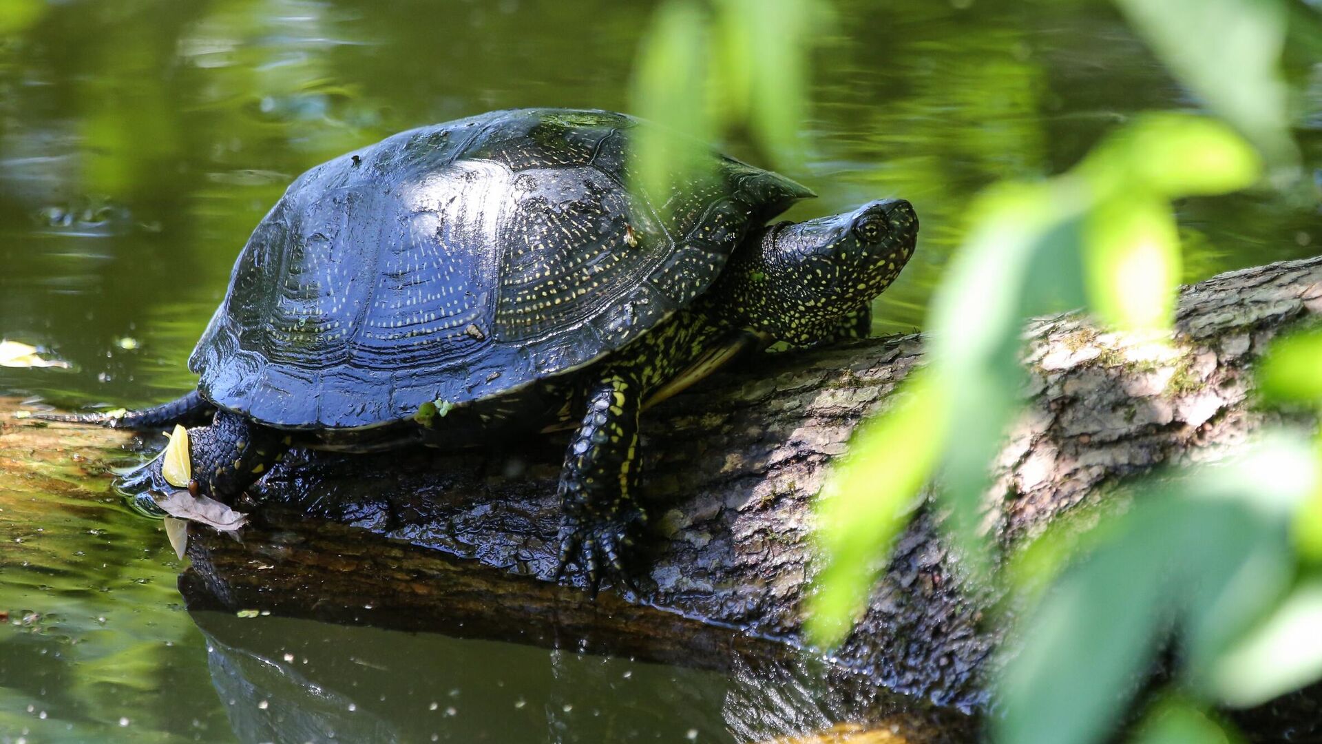
[[[1173,349],[1073,315],[1032,323],[1030,400],[986,502],[999,543],[1099,486],[1243,442],[1273,416],[1249,405],[1251,364],[1319,311],[1322,259],[1307,259],[1186,287]],[[916,335],[768,355],[648,412],[642,494],[656,534],[632,601],[553,582],[564,436],[463,453],[297,453],[251,490],[263,508],[242,543],[190,531],[181,586],[198,605],[723,666],[735,647],[797,641],[817,569],[813,498],[858,422],[920,359]],[[999,641],[981,622],[989,601],[920,515],[838,659],[891,690],[977,708]]]

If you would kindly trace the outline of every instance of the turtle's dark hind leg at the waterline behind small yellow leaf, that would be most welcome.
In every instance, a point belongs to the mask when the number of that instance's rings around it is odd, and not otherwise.
[[[229,410],[218,410],[210,426],[189,429],[190,488],[233,503],[275,465],[288,449],[288,437]],[[168,494],[176,486],[161,474],[165,453],[127,474],[119,483],[131,494]]]

